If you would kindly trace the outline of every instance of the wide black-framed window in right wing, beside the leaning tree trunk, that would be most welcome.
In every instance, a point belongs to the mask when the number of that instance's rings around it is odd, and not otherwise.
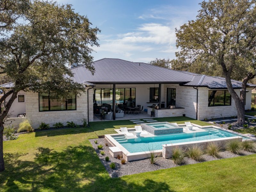
[[[228,90],[208,92],[208,107],[231,105],[231,95]]]

